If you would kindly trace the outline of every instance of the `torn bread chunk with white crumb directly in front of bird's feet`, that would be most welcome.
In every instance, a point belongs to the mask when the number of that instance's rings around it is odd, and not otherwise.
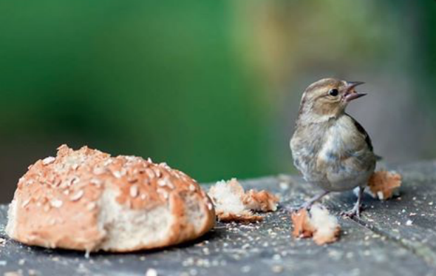
[[[318,245],[336,242],[340,234],[338,219],[331,215],[326,208],[318,204],[310,211],[300,209],[291,214],[293,222],[293,237],[312,237]]]

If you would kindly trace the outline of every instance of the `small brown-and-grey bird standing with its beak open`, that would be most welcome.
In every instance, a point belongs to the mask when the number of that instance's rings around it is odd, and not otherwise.
[[[323,192],[301,208],[309,209],[330,192],[359,187],[354,207],[341,214],[360,217],[364,188],[378,160],[364,127],[345,112],[351,101],[366,95],[356,92],[361,84],[329,77],[310,84],[302,94],[290,149],[304,180]]]

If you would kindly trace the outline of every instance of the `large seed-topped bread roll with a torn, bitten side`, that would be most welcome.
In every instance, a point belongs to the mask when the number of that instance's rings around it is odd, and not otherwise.
[[[6,233],[29,245],[127,252],[198,238],[214,221],[212,201],[183,172],[63,145],[20,178]]]

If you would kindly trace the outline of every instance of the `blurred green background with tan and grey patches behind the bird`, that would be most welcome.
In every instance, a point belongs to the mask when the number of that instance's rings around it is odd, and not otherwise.
[[[295,172],[302,91],[366,82],[388,162],[436,157],[436,1],[0,0],[0,201],[60,144],[201,182]]]

